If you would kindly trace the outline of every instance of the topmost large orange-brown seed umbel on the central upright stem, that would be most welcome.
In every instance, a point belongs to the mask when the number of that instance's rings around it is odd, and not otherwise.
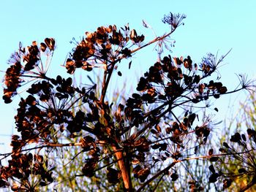
[[[90,72],[96,66],[109,68],[113,62],[132,56],[130,42],[132,45],[140,45],[143,40],[144,36],[138,35],[135,29],[130,31],[129,26],[121,29],[115,25],[101,26],[97,31],[86,32],[86,37],[75,42],[77,46],[67,58],[67,72],[72,74],[77,68]]]

